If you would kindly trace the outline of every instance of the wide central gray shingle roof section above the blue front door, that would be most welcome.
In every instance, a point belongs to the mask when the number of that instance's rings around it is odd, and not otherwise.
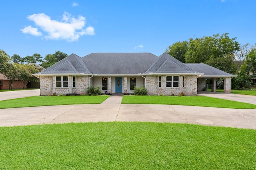
[[[144,73],[156,59],[151,53],[92,53],[82,57],[94,74]]]

